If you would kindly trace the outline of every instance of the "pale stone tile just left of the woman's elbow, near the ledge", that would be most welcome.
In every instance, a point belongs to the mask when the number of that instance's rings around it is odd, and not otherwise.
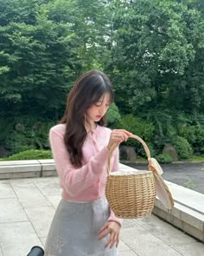
[[[44,195],[61,195],[61,187],[59,185],[59,178],[48,179],[35,182],[35,186],[41,190]]]

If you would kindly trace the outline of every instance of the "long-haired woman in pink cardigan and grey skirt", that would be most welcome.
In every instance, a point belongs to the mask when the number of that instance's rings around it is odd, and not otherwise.
[[[61,123],[49,139],[62,187],[62,199],[50,226],[45,256],[117,255],[122,220],[105,199],[106,163],[118,170],[118,145],[131,134],[105,128],[113,102],[112,84],[91,70],[73,85]]]

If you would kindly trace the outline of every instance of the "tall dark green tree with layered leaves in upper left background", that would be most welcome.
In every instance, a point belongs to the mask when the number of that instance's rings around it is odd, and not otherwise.
[[[78,63],[72,31],[49,20],[42,1],[4,2],[10,8],[0,27],[1,106],[10,115],[53,115],[64,105]]]

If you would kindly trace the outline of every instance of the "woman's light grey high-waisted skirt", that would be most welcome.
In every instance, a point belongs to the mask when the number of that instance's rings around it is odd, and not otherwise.
[[[51,223],[44,256],[117,256],[116,246],[104,248],[108,236],[98,240],[110,209],[105,196],[95,201],[61,200]]]

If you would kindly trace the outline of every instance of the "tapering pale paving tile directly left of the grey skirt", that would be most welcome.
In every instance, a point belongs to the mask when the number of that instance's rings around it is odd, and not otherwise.
[[[38,236],[46,237],[54,217],[54,207],[28,207],[25,208],[25,212],[28,214]]]

